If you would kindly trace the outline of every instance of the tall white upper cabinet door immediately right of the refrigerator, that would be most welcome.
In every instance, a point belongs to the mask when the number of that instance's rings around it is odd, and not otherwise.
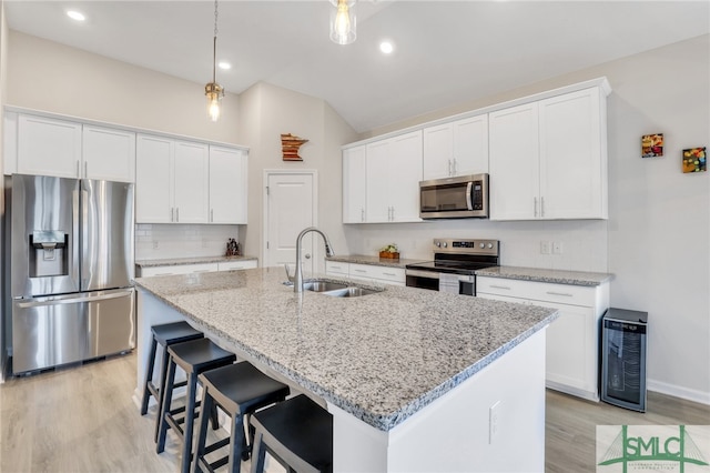
[[[135,221],[170,223],[173,221],[172,140],[139,134],[135,157]]]

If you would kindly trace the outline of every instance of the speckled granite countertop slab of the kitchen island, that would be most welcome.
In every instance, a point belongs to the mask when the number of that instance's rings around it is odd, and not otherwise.
[[[388,431],[548,325],[554,309],[416,288],[333,298],[282,268],[139,278],[148,291],[281,375]]]

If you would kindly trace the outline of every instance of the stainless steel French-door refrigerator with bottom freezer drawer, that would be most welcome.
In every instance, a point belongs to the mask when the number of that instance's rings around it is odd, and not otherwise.
[[[133,349],[133,184],[13,174],[6,199],[12,372]]]

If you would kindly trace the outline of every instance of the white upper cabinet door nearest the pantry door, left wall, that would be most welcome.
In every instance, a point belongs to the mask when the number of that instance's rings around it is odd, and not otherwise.
[[[210,222],[246,223],[246,152],[210,147]]]

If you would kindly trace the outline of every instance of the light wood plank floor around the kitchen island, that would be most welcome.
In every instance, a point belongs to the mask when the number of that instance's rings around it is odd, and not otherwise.
[[[129,354],[0,385],[0,472],[176,471],[175,437],[155,454],[155,410],[141,416],[133,403],[135,360]],[[546,471],[584,473],[595,471],[597,424],[704,425],[710,406],[649,393],[640,414],[548,391],[546,416]]]

